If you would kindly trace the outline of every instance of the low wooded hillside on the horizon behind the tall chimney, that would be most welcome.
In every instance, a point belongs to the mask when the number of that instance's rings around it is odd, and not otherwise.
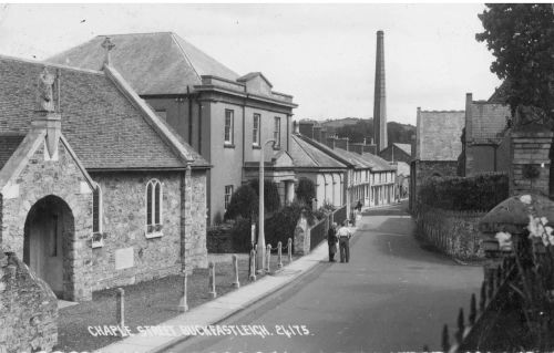
[[[321,125],[327,127],[329,134],[349,137],[352,143],[361,143],[363,138],[367,138],[367,143],[370,143],[373,137],[372,118],[346,117],[322,122]],[[389,144],[411,144],[411,136],[416,136],[416,126],[389,122],[387,123],[387,135]]]

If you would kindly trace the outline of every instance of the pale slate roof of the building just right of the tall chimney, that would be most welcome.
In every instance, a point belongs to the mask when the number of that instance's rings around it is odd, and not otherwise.
[[[464,111],[421,111],[416,128],[416,159],[458,160],[462,152]]]

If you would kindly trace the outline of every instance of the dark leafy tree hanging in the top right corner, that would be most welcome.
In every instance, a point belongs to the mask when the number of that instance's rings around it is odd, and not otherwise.
[[[554,117],[554,12],[550,3],[493,3],[479,14],[495,56],[491,71],[504,81],[505,103],[524,121]],[[525,108],[527,107],[527,108]]]

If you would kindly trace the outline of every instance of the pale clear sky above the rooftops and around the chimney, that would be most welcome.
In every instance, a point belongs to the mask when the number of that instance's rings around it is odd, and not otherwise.
[[[463,110],[500,85],[475,41],[480,3],[0,4],[0,55],[45,60],[95,35],[172,31],[238,74],[291,94],[295,120],[371,117],[384,31],[388,121]],[[1,79],[1,77],[0,77]]]

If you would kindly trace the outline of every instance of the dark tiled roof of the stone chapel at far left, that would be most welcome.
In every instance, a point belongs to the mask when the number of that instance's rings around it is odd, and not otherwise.
[[[34,116],[37,80],[44,64],[0,56],[0,134],[25,134]],[[62,133],[88,169],[184,168],[152,122],[103,72],[60,70]],[[167,127],[167,126],[166,126]],[[168,127],[167,127],[168,128]],[[208,166],[186,143],[193,166]]]

